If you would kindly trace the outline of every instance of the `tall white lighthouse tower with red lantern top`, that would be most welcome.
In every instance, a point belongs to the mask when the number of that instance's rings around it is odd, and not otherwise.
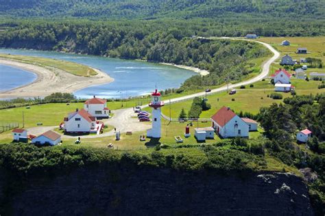
[[[149,107],[152,107],[152,129],[147,130],[147,137],[161,137],[161,109],[164,103],[160,100],[160,93],[157,90],[152,93],[152,102]]]

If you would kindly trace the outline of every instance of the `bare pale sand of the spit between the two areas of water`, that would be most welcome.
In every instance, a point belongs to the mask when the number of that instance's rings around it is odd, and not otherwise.
[[[91,85],[99,85],[114,81],[101,70],[93,68],[97,75],[93,77],[80,77],[52,67],[40,67],[34,64],[25,64],[11,59],[0,58],[0,64],[28,70],[37,75],[37,79],[15,89],[0,92],[0,98],[29,98],[43,97],[54,92],[72,93]]]

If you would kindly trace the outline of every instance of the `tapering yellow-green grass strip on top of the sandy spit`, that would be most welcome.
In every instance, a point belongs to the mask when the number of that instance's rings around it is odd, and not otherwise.
[[[32,57],[32,56],[25,56],[25,55],[5,55],[5,54],[0,54],[0,57],[6,59],[13,59],[15,61],[19,61],[27,64],[35,64],[41,67],[58,68],[60,70],[69,72],[73,75],[82,76],[82,77],[90,77],[90,76],[97,75],[97,72],[93,70],[93,68],[89,68],[88,66],[84,66],[82,64],[77,64],[74,62],[66,62],[58,59]]]

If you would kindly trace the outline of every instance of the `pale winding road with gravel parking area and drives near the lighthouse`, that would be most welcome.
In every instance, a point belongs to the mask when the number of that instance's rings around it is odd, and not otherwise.
[[[245,40],[245,39],[238,39],[238,38],[214,38],[214,39],[229,39],[229,40]],[[272,53],[274,53],[273,57],[271,57],[269,60],[267,60],[267,62],[265,62],[263,64],[263,68],[262,68],[262,72],[261,74],[259,74],[258,76],[248,80],[248,81],[242,81],[240,83],[236,83],[236,84],[229,84],[229,89],[234,88],[234,87],[239,87],[241,85],[249,85],[251,83],[255,83],[257,81],[260,81],[261,79],[267,77],[267,75],[269,74],[269,68],[271,66],[271,64],[280,56],[280,53],[278,53],[278,51],[276,51],[271,45],[266,44],[265,42],[260,42],[260,41],[256,41],[256,40],[248,40],[248,41],[253,41],[253,42],[258,42],[260,44],[263,44],[265,47],[267,47],[267,49],[269,49],[270,51],[272,51]],[[212,93],[216,93],[216,92],[223,92],[227,90],[227,85],[224,85],[222,87],[218,87],[214,90],[211,90],[211,92],[208,92],[207,94],[212,94]],[[189,100],[191,98],[195,98],[197,96],[205,96],[206,92],[199,92],[196,94],[190,94],[187,96],[182,96],[179,98],[173,98],[170,100],[171,103],[176,103],[182,100]],[[164,101],[165,104],[169,104],[169,100],[165,100]],[[148,107],[148,105],[144,105],[143,108]],[[104,124],[109,124],[114,126],[117,131],[121,131],[121,133],[125,133],[126,131],[132,131],[132,132],[136,132],[136,131],[145,131],[149,128],[151,128],[151,125],[149,124],[144,124],[143,122],[139,122],[139,120],[136,117],[136,114],[134,113],[132,108],[128,108],[128,109],[117,109],[112,111],[112,113],[114,113],[114,116],[108,120],[104,120]],[[40,127],[34,127],[32,129],[28,129],[28,133],[31,133],[33,135],[40,135],[40,133],[44,133],[45,131],[48,130],[53,130],[58,126],[40,126]],[[84,135],[84,136],[80,136],[80,137],[84,137],[84,138],[97,138],[97,137],[108,137],[108,136],[112,136],[115,135],[114,130],[112,131],[108,131],[106,133],[102,133],[100,135]],[[68,136],[68,135],[62,135],[62,137],[64,138],[72,138],[72,136]]]

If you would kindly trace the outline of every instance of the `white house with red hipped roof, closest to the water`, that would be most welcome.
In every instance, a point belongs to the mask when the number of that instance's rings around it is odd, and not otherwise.
[[[109,118],[107,100],[96,98],[95,96],[84,103],[84,109],[96,118]]]

